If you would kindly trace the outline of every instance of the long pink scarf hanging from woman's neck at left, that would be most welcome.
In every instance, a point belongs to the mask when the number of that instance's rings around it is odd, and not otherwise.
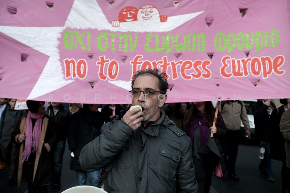
[[[32,130],[31,118],[37,119],[33,130]],[[24,147],[24,152],[22,154],[21,163],[28,160],[31,150],[32,150],[32,153],[36,151],[36,155],[39,155],[38,143],[39,143],[40,134],[41,134],[42,118],[43,118],[43,113],[39,115],[33,115],[30,111],[28,111],[28,114],[26,117],[25,147]]]

